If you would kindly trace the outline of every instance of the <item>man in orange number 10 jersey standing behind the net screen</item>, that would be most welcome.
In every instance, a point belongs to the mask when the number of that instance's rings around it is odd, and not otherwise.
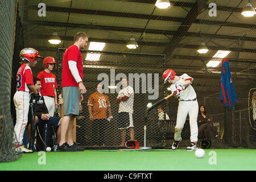
[[[109,97],[103,93],[102,85],[97,84],[95,87],[96,92],[90,95],[88,100],[88,110],[90,121],[93,121],[93,141],[96,146],[104,145],[106,125],[108,120],[113,117],[111,114],[111,108],[109,103]],[[107,120],[107,111],[109,111],[109,117]],[[101,131],[103,131],[101,133]]]

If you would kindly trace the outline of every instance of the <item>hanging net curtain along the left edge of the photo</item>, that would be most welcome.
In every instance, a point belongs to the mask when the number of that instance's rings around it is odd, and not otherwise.
[[[11,115],[11,78],[14,51],[16,1],[0,2],[0,162],[11,162],[22,155],[15,151],[14,123]],[[17,35],[17,34],[15,34]]]

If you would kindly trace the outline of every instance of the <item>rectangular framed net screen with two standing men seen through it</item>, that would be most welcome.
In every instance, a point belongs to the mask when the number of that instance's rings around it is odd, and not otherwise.
[[[59,88],[64,51],[65,49],[59,49],[58,53]],[[127,140],[135,139],[140,145],[144,145],[143,128],[147,104],[154,104],[164,97],[164,85],[160,84],[164,55],[104,51],[81,53],[87,57],[84,61],[84,84],[87,92],[81,101],[80,115],[76,122],[77,143],[88,147],[118,147],[124,146]],[[93,61],[98,56],[101,61]],[[122,86],[123,79],[127,79],[129,85],[126,89]],[[97,90],[99,83],[104,93]],[[121,100],[123,96],[129,99]],[[119,102],[117,98],[120,98]],[[165,106],[167,105],[163,103],[163,108]],[[110,115],[113,119],[108,121]],[[148,115],[147,144],[150,146],[164,144],[164,131],[160,130],[159,125],[156,108]]]

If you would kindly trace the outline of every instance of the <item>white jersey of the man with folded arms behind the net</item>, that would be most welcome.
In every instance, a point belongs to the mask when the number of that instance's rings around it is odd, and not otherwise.
[[[126,88],[120,90],[117,97],[129,97],[126,101],[122,101],[119,104],[118,113],[127,112],[133,114],[133,100],[134,100],[134,90],[131,86],[127,86]]]

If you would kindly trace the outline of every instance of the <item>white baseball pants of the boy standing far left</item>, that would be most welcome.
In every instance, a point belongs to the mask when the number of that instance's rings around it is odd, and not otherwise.
[[[28,122],[28,110],[30,109],[30,93],[23,91],[16,91],[14,94],[14,105],[16,109],[16,124],[14,126],[14,133],[17,144],[22,144],[23,134]]]

